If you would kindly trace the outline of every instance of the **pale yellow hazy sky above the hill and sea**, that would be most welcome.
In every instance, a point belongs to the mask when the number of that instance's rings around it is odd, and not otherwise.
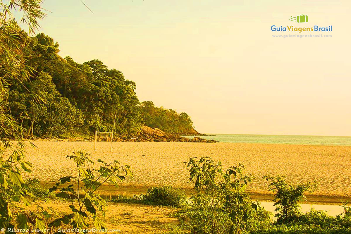
[[[100,59],[140,101],[204,133],[351,136],[351,2],[46,0],[41,31],[77,62]],[[308,15],[309,22],[289,21]],[[272,25],[331,38],[273,38]]]

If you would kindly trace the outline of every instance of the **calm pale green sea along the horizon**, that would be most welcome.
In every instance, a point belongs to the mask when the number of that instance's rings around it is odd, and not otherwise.
[[[351,136],[298,136],[298,135],[240,135],[210,134],[216,136],[200,136],[220,142],[234,143],[267,143],[289,145],[338,145],[351,146]],[[184,136],[193,138],[194,136]]]

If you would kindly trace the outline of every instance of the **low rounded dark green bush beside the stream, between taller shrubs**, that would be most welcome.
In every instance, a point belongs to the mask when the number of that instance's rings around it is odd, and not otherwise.
[[[161,186],[147,189],[143,201],[149,205],[185,207],[186,195],[183,190],[172,186]]]

